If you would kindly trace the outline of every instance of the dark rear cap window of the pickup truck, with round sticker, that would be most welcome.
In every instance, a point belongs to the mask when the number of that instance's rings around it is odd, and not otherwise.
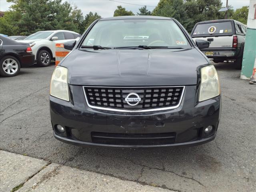
[[[216,28],[215,32],[212,34],[225,34],[233,32],[231,22],[228,21],[198,24],[192,35],[210,35],[210,33],[208,32],[210,27]]]

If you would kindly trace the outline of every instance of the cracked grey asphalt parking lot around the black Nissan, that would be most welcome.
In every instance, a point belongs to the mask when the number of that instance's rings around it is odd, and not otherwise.
[[[191,148],[113,150],[64,144],[52,134],[49,84],[54,64],[0,78],[1,150],[178,192],[256,190],[256,86],[232,63],[215,64],[222,117],[214,141]]]

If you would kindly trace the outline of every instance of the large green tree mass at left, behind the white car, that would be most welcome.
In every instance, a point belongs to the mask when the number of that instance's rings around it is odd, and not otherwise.
[[[13,4],[0,18],[7,35],[30,35],[40,30],[66,29],[80,32],[82,11],[62,0],[7,0]]]

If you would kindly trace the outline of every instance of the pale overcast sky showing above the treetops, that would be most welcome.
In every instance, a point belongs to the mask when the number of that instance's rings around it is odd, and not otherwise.
[[[159,0],[68,0],[82,10],[84,16],[91,12],[97,12],[102,17],[111,17],[116,10],[116,6],[121,5],[126,10],[131,10],[136,14],[139,8],[146,5],[147,9],[152,11],[157,6]],[[228,0],[228,4],[236,10],[242,6],[249,6],[250,0]],[[226,5],[226,0],[222,0],[223,6]],[[0,0],[0,10],[6,11],[12,3],[6,0]],[[133,5],[136,4],[136,5]]]

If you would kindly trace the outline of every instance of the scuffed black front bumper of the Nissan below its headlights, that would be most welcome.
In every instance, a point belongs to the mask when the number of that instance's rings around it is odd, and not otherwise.
[[[141,113],[92,109],[86,104],[82,86],[70,86],[70,90],[72,102],[50,96],[54,136],[66,143],[118,148],[194,146],[210,142],[216,136],[221,97],[196,103],[196,86],[186,86],[182,102],[176,109]],[[58,132],[57,124],[62,125],[66,132]],[[204,128],[209,125],[214,130],[204,134]],[[101,139],[95,139],[95,134],[102,136]],[[166,134],[172,138],[160,137]],[[138,139],[137,135],[141,138]],[[149,136],[146,142],[144,136]],[[158,136],[160,138],[156,140]],[[130,140],[126,142],[127,138]]]

